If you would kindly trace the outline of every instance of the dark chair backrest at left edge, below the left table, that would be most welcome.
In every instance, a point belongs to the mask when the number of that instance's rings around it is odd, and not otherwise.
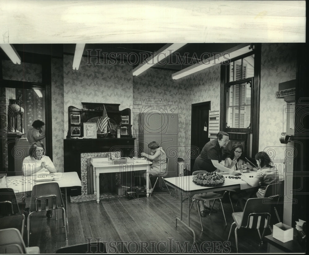
[[[22,214],[13,189],[0,189],[0,217]]]

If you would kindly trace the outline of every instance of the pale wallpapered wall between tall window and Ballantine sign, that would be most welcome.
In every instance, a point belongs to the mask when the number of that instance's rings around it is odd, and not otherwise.
[[[296,79],[296,50],[297,44],[262,44],[259,151],[268,151],[274,161],[286,157],[286,145],[279,142],[286,102],[275,93],[279,83]]]

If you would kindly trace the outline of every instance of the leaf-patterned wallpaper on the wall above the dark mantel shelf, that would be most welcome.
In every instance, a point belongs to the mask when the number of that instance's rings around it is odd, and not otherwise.
[[[86,65],[83,60],[73,70],[73,56],[63,57],[64,80],[64,133],[68,131],[68,107],[82,108],[81,102],[120,104],[119,110],[133,102],[131,65]]]

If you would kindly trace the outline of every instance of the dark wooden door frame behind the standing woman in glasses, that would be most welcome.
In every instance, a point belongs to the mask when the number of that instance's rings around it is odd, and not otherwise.
[[[191,155],[194,155],[194,159],[199,155],[199,152],[196,150],[197,143],[197,130],[199,117],[197,116],[197,109],[199,106],[208,105],[209,110],[211,110],[211,101],[191,104]],[[195,127],[195,128],[194,128]],[[196,155],[197,154],[197,155]],[[194,159],[191,157],[191,169],[193,168]]]

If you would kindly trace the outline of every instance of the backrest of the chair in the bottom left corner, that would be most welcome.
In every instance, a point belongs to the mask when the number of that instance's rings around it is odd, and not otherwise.
[[[27,253],[18,229],[6,228],[0,230],[0,254],[4,253]]]

